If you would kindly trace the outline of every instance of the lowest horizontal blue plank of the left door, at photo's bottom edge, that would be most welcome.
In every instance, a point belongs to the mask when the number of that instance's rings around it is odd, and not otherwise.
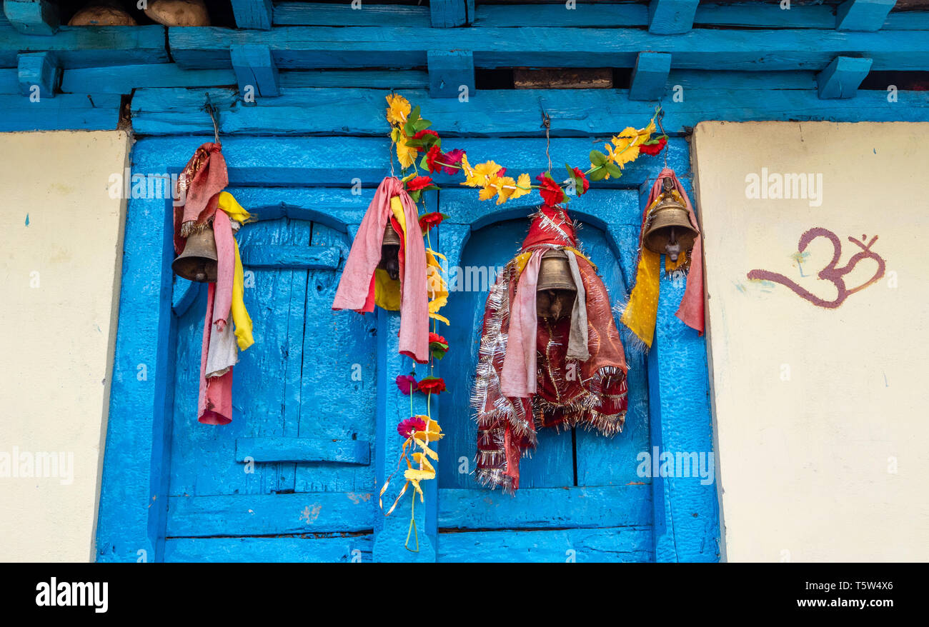
[[[373,536],[183,538],[164,543],[165,562],[370,562]]]

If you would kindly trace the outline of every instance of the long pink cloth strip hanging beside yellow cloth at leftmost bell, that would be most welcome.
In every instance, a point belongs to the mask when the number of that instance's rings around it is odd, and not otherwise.
[[[220,376],[208,377],[210,337],[226,329],[232,306],[232,279],[235,274],[235,240],[226,212],[216,212],[213,221],[216,238],[216,282],[206,292],[206,316],[203,320],[203,347],[200,355],[200,396],[197,420],[204,425],[228,425],[232,422],[232,363]],[[234,359],[234,358],[233,358]]]

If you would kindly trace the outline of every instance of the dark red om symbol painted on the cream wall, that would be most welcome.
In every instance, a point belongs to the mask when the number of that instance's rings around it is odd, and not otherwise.
[[[855,255],[852,255],[852,257],[848,260],[848,263],[846,263],[842,267],[836,266],[836,264],[839,263],[839,257],[842,256],[842,242],[839,240],[839,237],[829,229],[822,229],[820,227],[809,229],[803,235],[800,236],[800,242],[797,245],[797,250],[800,253],[803,253],[806,250],[806,246],[808,246],[810,242],[813,242],[813,240],[817,239],[818,237],[824,237],[830,242],[832,242],[832,259],[828,264],[826,264],[825,268],[822,268],[821,270],[819,270],[817,276],[819,277],[819,279],[823,281],[831,281],[831,283],[835,285],[835,289],[838,291],[838,294],[836,294],[835,296],[835,300],[823,300],[822,298],[819,298],[816,294],[812,294],[811,292],[805,290],[804,287],[797,284],[792,279],[785,277],[783,274],[779,274],[778,272],[771,272],[770,270],[756,269],[748,273],[748,278],[749,279],[761,279],[764,281],[774,281],[776,283],[780,283],[781,285],[791,288],[794,294],[797,294],[801,298],[805,298],[806,300],[813,303],[814,305],[817,305],[818,307],[827,307],[830,309],[834,309],[835,307],[839,307],[840,305],[842,305],[845,302],[845,299],[848,298],[848,296],[850,296],[851,294],[855,294],[856,292],[859,292],[865,289],[871,283],[875,281],[880,281],[881,277],[883,277],[883,271],[884,271],[883,258],[881,257],[881,255],[874,253],[870,249],[871,245],[874,242],[877,242],[877,235],[872,237],[870,239],[870,242],[868,242],[867,244],[865,244],[866,238],[863,235],[861,236],[860,241],[856,240],[853,237],[849,237],[848,241],[853,242],[857,246],[859,246],[861,248],[861,252],[856,253]],[[873,259],[877,263],[877,270],[874,272],[874,276],[871,277],[870,280],[862,283],[861,285],[858,285],[857,287],[853,287],[849,289],[848,287],[845,286],[844,277],[846,274],[851,272],[857,266],[858,262],[861,261],[862,259]]]

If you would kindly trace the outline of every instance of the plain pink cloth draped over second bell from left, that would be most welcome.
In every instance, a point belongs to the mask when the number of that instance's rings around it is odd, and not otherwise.
[[[416,204],[395,176],[381,181],[361,220],[335,291],[333,309],[353,309],[359,313],[374,310],[374,270],[381,260],[381,243],[387,220],[393,215],[390,199],[394,196],[399,196],[403,205],[407,229],[400,256],[399,353],[426,363],[429,360],[429,297],[425,281],[425,244]]]

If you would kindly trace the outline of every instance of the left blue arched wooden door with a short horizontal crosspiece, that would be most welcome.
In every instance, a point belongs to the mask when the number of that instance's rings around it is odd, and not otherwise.
[[[230,425],[196,418],[205,289],[177,320],[164,559],[370,558],[374,319],[330,311],[348,236],[282,217],[238,240],[255,345]]]

